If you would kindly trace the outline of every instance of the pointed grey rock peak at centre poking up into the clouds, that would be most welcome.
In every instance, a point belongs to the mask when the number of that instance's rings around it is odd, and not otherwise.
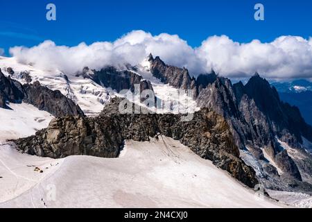
[[[187,69],[166,65],[158,56],[148,58],[150,62],[150,71],[162,83],[169,84],[177,89],[195,89],[195,78],[191,78]]]

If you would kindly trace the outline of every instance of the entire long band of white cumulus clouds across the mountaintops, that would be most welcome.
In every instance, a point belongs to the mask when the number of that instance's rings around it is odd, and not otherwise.
[[[151,35],[132,31],[114,42],[95,42],[78,46],[56,46],[45,41],[27,48],[10,49],[19,62],[32,63],[40,69],[58,69],[74,74],[87,66],[101,69],[106,65],[137,65],[149,53],[160,56],[164,62],[186,67],[197,76],[215,69],[227,77],[247,77],[258,71],[266,78],[311,78],[312,38],[281,36],[273,42],[234,42],[229,37],[212,36],[198,48],[192,48],[177,35]]]

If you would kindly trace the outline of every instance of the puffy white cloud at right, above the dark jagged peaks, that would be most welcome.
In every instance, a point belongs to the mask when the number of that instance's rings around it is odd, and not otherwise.
[[[270,43],[233,42],[227,36],[209,37],[196,49],[206,67],[230,77],[250,76],[255,71],[267,78],[312,76],[312,40],[281,36]]]

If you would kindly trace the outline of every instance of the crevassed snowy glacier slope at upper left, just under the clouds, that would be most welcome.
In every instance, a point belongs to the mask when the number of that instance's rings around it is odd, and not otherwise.
[[[21,78],[20,73],[28,71],[33,82],[38,80],[42,85],[49,87],[49,89],[60,90],[62,94],[77,103],[87,115],[95,115],[101,112],[104,104],[115,94],[112,89],[105,89],[89,78],[76,77],[74,74],[65,76],[62,71],[58,70],[39,70],[31,65],[20,64],[15,58],[0,56],[0,68],[3,74],[8,75],[6,71],[8,67],[15,71],[15,74],[11,77],[21,83],[26,82]]]

